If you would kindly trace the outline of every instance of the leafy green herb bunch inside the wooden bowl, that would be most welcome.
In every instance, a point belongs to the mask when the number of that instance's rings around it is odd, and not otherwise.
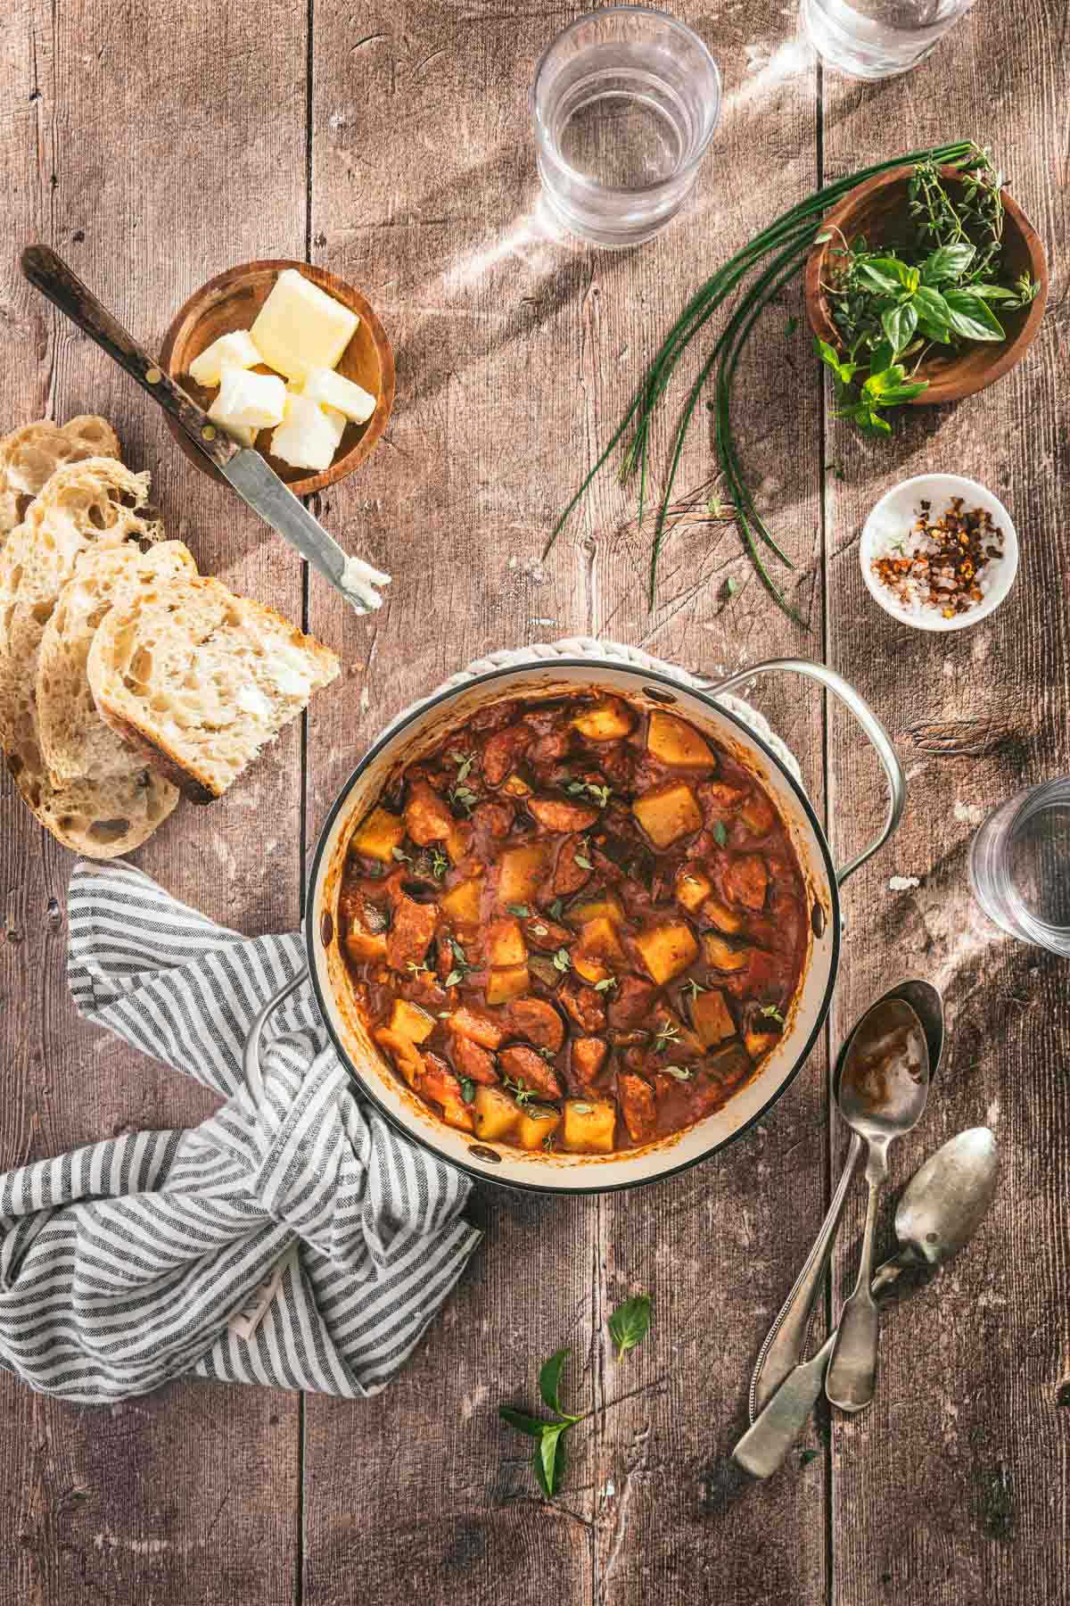
[[[913,400],[927,381],[914,377],[934,345],[1004,340],[991,304],[1025,307],[1038,284],[995,279],[1003,249],[1003,175],[987,153],[956,186],[954,198],[932,161],[916,162],[908,183],[914,239],[871,251],[865,236],[829,251],[825,284],[837,352],[817,350],[831,371],[841,403],[836,416],[865,434],[890,434],[890,406]]]

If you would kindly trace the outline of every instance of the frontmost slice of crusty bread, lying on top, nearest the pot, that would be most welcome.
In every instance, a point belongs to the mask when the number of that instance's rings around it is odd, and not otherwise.
[[[103,718],[197,803],[221,797],[338,673],[327,647],[218,580],[112,607],[90,647]]]

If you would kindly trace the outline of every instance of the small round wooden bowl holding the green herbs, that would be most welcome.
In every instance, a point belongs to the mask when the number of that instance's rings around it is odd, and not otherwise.
[[[821,284],[826,281],[837,246],[850,244],[858,234],[865,234],[871,246],[903,244],[913,234],[913,220],[908,210],[906,183],[913,169],[894,167],[887,173],[877,173],[857,190],[850,190],[839,206],[826,215],[821,233],[831,230],[833,238],[815,246],[807,259],[804,281],[807,318],[810,328],[820,340],[841,347],[839,331],[829,315],[828,299]],[[961,185],[963,175],[956,167],[942,167],[940,175],[951,183]],[[1022,207],[1007,190],[1001,190],[1004,225],[1003,225],[1003,257],[999,263],[999,281],[1017,279],[1019,273],[1028,273],[1040,281],[1040,289],[1028,307],[1006,312],[999,304],[993,310],[999,323],[1007,331],[1006,340],[983,340],[964,345],[950,355],[932,352],[918,371],[919,379],[927,379],[929,387],[914,397],[913,406],[930,406],[935,402],[959,402],[972,397],[977,390],[995,385],[1015,363],[1025,357],[1027,347],[1033,342],[1040,328],[1040,320],[1048,300],[1048,262],[1044,247],[1033,225]]]

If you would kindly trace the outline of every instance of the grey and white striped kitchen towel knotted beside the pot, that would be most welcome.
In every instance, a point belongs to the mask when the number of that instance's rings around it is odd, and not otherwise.
[[[245,938],[122,861],[79,862],[67,978],[82,1015],[225,1103],[0,1174],[0,1363],[69,1400],[193,1372],[377,1394],[448,1298],[480,1232],[470,1184],[355,1097],[298,933]]]

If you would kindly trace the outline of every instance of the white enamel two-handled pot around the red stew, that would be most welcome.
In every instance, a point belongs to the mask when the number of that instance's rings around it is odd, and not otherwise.
[[[547,655],[549,654],[549,655]],[[887,842],[905,801],[905,779],[882,724],[841,676],[802,658],[757,663],[714,684],[687,671],[611,642],[578,639],[553,649],[501,655],[505,662],[457,676],[441,691],[401,715],[369,748],[335,800],[313,859],[306,899],[308,968],[324,1021],[359,1090],[424,1148],[464,1171],[510,1187],[541,1193],[600,1193],[637,1187],[707,1160],[759,1121],[804,1065],[828,1013],[841,946],[839,885]],[[736,699],[719,700],[757,675],[788,671],[809,676],[834,692],[855,715],[876,748],[889,785],[884,825],[861,853],[836,869],[828,842],[797,779],[797,766],[768,726]],[[669,1139],[622,1155],[590,1156],[525,1153],[502,1143],[480,1143],[472,1134],[446,1126],[390,1071],[371,1042],[351,1002],[340,949],[338,890],[345,850],[355,825],[382,789],[404,766],[435,748],[452,729],[488,703],[531,700],[568,692],[613,692],[634,707],[671,705],[699,731],[743,761],[767,787],[791,832],[810,899],[810,951],[802,983],[776,1049],[756,1076],[722,1108]],[[792,772],[794,771],[794,772]],[[297,984],[297,983],[294,983]],[[289,991],[289,989],[287,989]],[[265,1018],[274,1001],[265,1010]],[[253,1028],[247,1065],[253,1082]]]

